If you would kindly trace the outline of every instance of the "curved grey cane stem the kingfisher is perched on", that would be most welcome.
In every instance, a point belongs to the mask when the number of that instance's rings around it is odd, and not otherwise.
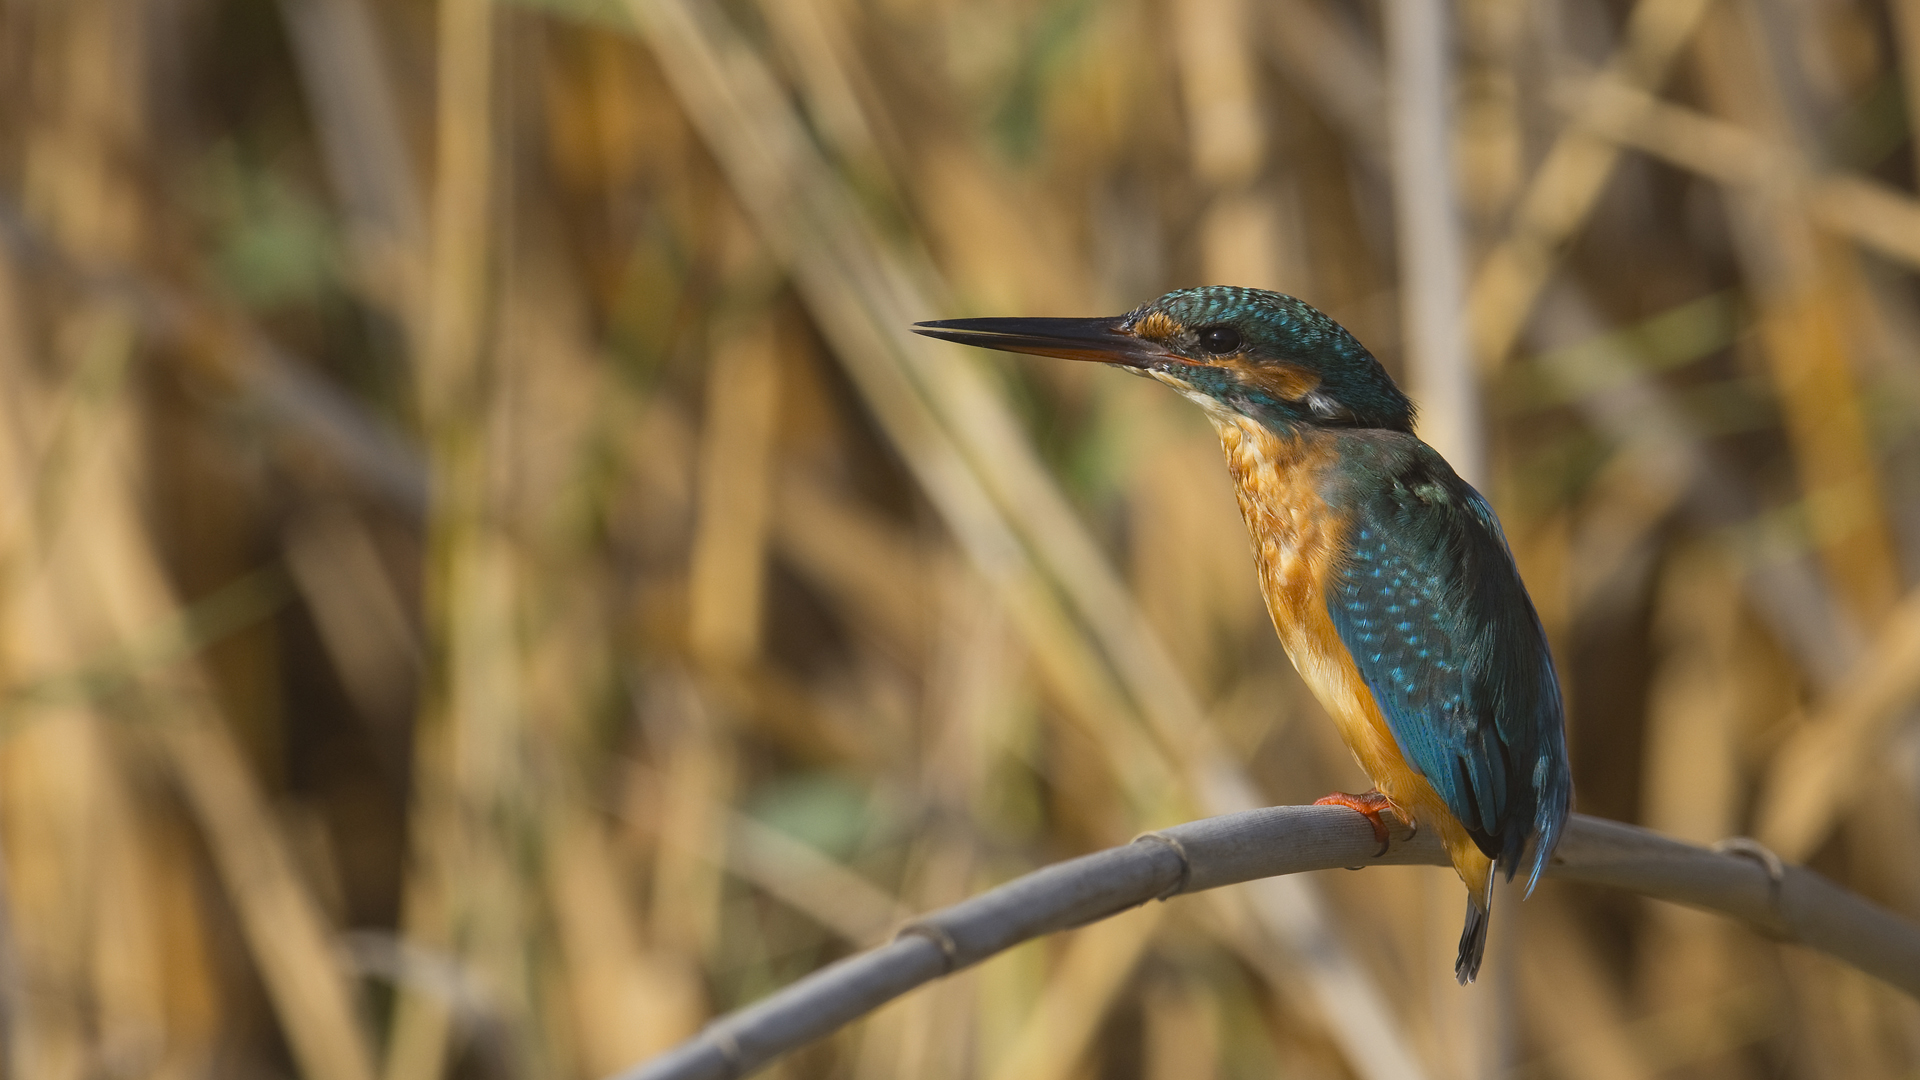
[[[893,942],[724,1017],[614,1080],[745,1076],[916,986],[1150,899],[1338,867],[1446,863],[1432,830],[1396,840],[1380,857],[1375,847],[1367,824],[1342,807],[1265,807],[1148,832],[916,919]],[[1920,926],[1751,842],[1711,851],[1574,815],[1548,876],[1716,911],[1920,997]]]

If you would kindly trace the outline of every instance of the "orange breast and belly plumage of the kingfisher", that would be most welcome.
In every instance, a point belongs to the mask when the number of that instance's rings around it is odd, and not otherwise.
[[[1260,590],[1286,655],[1340,728],[1354,759],[1394,805],[1440,828],[1453,867],[1482,896],[1490,863],[1446,809],[1440,794],[1400,753],[1373,692],[1327,611],[1327,580],[1338,569],[1346,521],[1321,488],[1334,465],[1334,436],[1275,434],[1246,417],[1213,413],[1240,515],[1254,542]]]

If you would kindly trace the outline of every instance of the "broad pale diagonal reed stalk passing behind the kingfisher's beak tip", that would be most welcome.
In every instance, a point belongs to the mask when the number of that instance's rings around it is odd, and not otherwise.
[[[937,457],[918,463],[929,494],[935,500],[975,500],[973,492],[960,494],[962,477],[952,473],[954,465],[970,461],[983,486],[1020,523],[1021,538],[1081,607],[1089,630],[1114,665],[1112,671],[1139,703],[1162,749],[1181,763],[1181,773],[1192,776],[1188,782],[1202,805],[1215,811],[1258,805],[1250,784],[1233,774],[1215,748],[1217,736],[1208,732],[1192,690],[1142,625],[1125,586],[1108,571],[1106,557],[1025,450],[1025,438],[1008,409],[973,367],[931,365],[925,359],[929,348],[904,334],[916,309],[925,307],[924,302],[910,302],[914,275],[887,259],[872,231],[851,209],[845,192],[833,190],[831,177],[803,146],[787,119],[789,110],[778,102],[770,77],[756,71],[756,60],[743,42],[732,40],[716,15],[680,4],[641,4],[636,15],[660,42],[662,65],[678,71],[684,98],[693,104],[716,154],[732,165],[733,181],[755,209],[762,233],[793,261],[816,319],[835,338],[843,363],[849,363],[881,421],[895,432],[897,446],[947,457],[939,465]],[[829,252],[845,263],[828,261],[824,256]],[[914,402],[916,382],[927,392],[925,404]],[[943,415],[937,421],[925,417],[924,409],[939,409]],[[964,452],[939,446],[945,442],[943,430],[950,430]],[[914,461],[914,455],[908,459]],[[973,503],[962,511],[952,502],[948,521],[962,536],[998,517],[985,505]],[[991,575],[1014,555],[1004,546],[1006,540],[1012,538],[993,540],[996,552],[973,548],[970,553]],[[1114,721],[1110,713],[1102,719],[1108,724]],[[1160,805],[1148,805],[1165,813]],[[1325,995],[1329,1017],[1340,1024],[1348,1053],[1367,1063],[1367,1068],[1380,1068],[1380,1074],[1415,1068],[1405,1049],[1379,1034],[1386,1028],[1386,1019],[1380,995],[1363,990],[1367,976],[1354,961],[1329,953],[1319,944],[1325,938],[1325,915],[1311,894],[1281,886],[1263,894],[1261,909],[1281,940],[1325,959],[1309,970],[1315,972],[1315,988]]]

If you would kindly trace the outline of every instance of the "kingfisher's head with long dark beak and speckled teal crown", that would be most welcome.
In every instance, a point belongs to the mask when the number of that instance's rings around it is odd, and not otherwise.
[[[1413,430],[1413,404],[1346,327],[1261,288],[1183,288],[1110,319],[947,319],[929,338],[1094,359],[1265,425]]]

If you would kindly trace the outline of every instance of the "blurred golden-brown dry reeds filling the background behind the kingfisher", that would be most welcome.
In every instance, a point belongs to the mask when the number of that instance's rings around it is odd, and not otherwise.
[[[1920,917],[1920,2],[1390,15],[0,2],[4,1074],[601,1076],[906,913],[1365,788],[1196,409],[906,332],[1202,282],[1413,384],[1580,811]],[[1473,990],[1450,872],[1323,874],[768,1074],[1920,1076],[1866,976],[1517,899]]]

